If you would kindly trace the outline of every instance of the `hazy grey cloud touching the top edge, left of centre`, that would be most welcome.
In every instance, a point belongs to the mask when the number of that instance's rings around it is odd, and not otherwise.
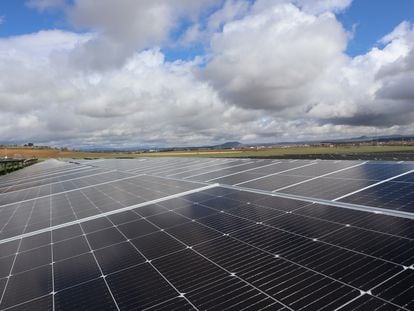
[[[136,51],[166,44],[183,18],[196,19],[214,1],[76,0],[69,20],[97,35],[73,52],[78,68],[102,70],[122,66]]]

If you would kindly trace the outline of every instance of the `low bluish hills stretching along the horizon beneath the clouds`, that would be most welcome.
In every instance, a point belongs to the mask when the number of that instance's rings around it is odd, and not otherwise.
[[[191,147],[157,147],[157,146],[133,146],[133,147],[83,147],[80,151],[92,152],[128,152],[128,151],[170,151],[170,150],[197,150],[197,149],[232,149],[232,148],[248,148],[257,146],[281,146],[281,145],[298,145],[298,144],[347,144],[347,143],[363,143],[363,142],[389,142],[398,140],[414,140],[414,135],[382,135],[382,136],[359,136],[352,138],[340,138],[329,140],[313,140],[313,141],[295,141],[295,142],[278,142],[278,143],[250,143],[243,144],[238,141],[229,141],[219,145],[191,146]]]

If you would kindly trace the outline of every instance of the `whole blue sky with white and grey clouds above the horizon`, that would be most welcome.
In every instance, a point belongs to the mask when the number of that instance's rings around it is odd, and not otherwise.
[[[0,143],[414,134],[412,0],[1,0]]]

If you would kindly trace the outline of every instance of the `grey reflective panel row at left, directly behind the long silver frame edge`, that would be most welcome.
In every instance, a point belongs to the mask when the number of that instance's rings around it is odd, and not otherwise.
[[[199,187],[200,184],[186,181],[133,177],[9,204],[0,207],[0,239],[12,238]]]

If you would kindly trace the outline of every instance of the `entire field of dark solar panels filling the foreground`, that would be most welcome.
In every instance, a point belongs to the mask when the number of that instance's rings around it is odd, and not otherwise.
[[[414,164],[47,160],[0,179],[1,310],[414,310]]]

